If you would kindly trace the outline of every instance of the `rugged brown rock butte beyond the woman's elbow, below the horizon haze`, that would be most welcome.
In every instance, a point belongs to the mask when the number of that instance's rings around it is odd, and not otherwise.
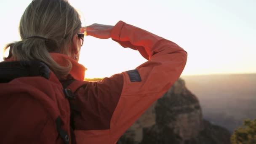
[[[179,79],[117,144],[230,144],[225,128],[203,120],[199,101]]]

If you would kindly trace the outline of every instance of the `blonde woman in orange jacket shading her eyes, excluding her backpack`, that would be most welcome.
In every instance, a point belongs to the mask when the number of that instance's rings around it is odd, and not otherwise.
[[[115,26],[93,24],[86,28],[87,35],[112,38],[148,61],[100,82],[83,81],[85,67],[77,61],[84,29],[66,0],[33,0],[19,31],[21,41],[8,45],[11,56],[5,61],[43,61],[59,80],[77,80],[69,89],[75,93],[70,105],[79,111],[71,113],[71,139],[78,144],[115,144],[173,85],[187,61],[186,51],[175,43],[123,21]]]

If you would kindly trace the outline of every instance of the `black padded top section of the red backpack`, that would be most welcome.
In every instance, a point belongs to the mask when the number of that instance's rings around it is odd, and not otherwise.
[[[19,77],[44,77],[49,79],[51,70],[41,61],[0,62],[0,83],[8,83]]]

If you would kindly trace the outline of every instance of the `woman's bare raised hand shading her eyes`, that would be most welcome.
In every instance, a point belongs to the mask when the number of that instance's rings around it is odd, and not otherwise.
[[[111,37],[111,31],[114,26],[104,24],[92,24],[86,27],[86,35],[91,35],[100,39],[108,39]]]

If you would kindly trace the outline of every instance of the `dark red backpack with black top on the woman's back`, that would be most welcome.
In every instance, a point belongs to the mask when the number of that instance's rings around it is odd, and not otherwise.
[[[74,81],[61,84],[40,61],[1,62],[0,143],[75,143],[70,115],[79,111],[69,106],[74,96],[67,89]],[[71,87],[74,91],[80,86]]]

